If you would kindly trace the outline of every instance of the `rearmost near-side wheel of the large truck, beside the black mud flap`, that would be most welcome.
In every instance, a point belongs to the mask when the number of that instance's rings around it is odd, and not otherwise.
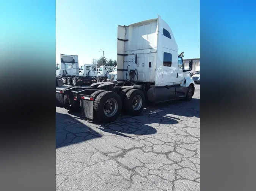
[[[93,103],[94,116],[100,122],[114,122],[122,110],[120,96],[112,91],[101,92]]]

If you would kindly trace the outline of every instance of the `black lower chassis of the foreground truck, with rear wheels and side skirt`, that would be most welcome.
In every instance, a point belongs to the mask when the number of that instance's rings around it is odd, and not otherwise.
[[[90,87],[62,88],[61,82],[56,82],[56,106],[82,112],[83,116],[91,120],[110,123],[118,118],[121,111],[131,116],[140,114],[146,101],[190,101],[195,92],[193,84],[188,87],[168,86],[160,87],[157,91],[155,89],[157,87],[124,86],[112,82],[97,82]]]

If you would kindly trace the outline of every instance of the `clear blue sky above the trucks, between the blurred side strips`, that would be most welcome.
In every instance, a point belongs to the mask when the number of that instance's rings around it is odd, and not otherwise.
[[[116,60],[117,26],[157,18],[171,27],[184,59],[200,57],[199,0],[56,0],[56,62],[79,56],[79,65],[102,56]]]

